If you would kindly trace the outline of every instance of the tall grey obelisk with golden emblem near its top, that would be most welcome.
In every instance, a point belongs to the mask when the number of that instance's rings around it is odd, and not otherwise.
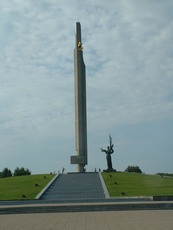
[[[87,112],[86,71],[83,60],[81,25],[76,23],[76,44],[74,49],[75,76],[75,134],[77,156],[71,156],[71,164],[78,165],[78,172],[85,172],[87,165]]]

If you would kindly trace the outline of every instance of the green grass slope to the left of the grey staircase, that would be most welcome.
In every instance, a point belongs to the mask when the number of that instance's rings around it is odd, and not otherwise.
[[[0,200],[34,199],[54,174],[0,178]]]

